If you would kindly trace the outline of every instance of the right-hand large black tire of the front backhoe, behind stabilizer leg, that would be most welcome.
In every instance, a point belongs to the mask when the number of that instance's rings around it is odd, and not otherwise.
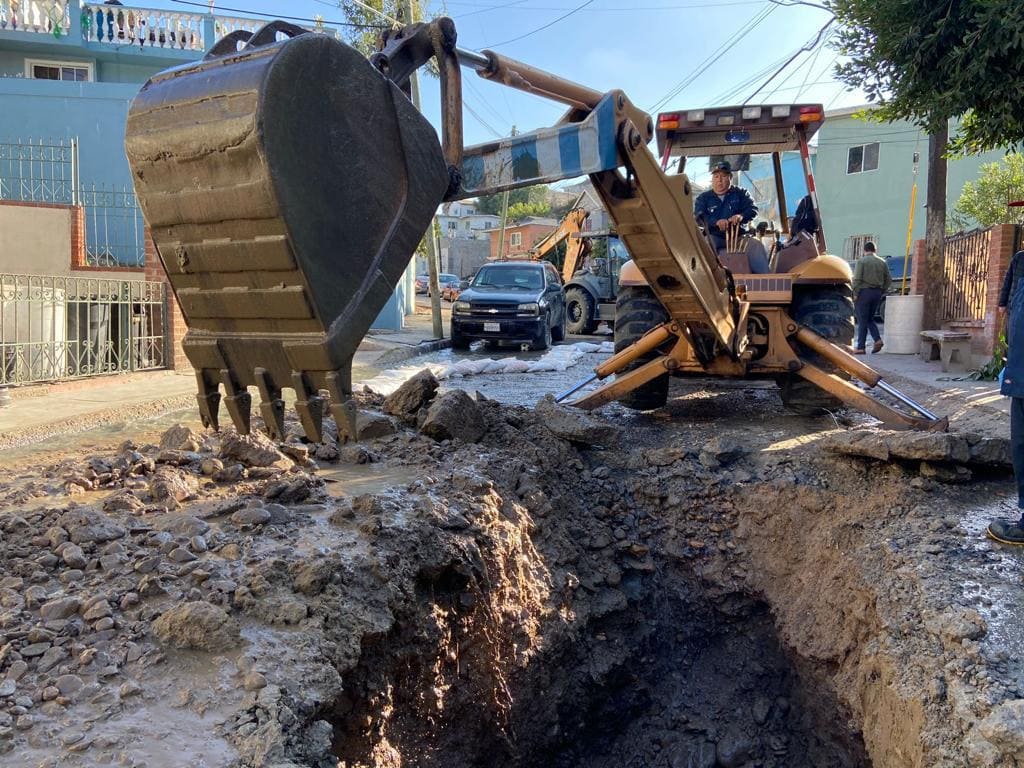
[[[850,346],[853,343],[853,292],[847,285],[798,288],[793,296],[793,318],[807,326],[833,344]],[[798,345],[800,356],[828,373],[844,376],[831,364],[807,347]],[[801,416],[817,416],[826,411],[843,408],[843,401],[818,388],[798,374],[786,374],[779,379],[782,404]]]

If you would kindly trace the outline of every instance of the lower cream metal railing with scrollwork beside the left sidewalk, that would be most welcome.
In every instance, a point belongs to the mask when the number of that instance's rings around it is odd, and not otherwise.
[[[0,385],[164,368],[163,283],[0,273]]]

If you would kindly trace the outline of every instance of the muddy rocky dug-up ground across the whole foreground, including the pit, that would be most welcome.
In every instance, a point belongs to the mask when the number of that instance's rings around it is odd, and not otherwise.
[[[1010,483],[824,455],[775,397],[23,460],[0,762],[1024,763],[1020,563],[978,537]]]

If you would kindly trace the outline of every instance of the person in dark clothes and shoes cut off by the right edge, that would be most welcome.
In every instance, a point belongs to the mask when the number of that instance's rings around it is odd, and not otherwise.
[[[1014,257],[1015,263],[1017,256]],[[1010,397],[1010,451],[1017,479],[1019,519],[993,520],[988,525],[988,536],[1004,544],[1024,545],[1024,281],[1017,281],[1008,303],[1010,325],[1007,338],[1010,345],[1000,391]]]

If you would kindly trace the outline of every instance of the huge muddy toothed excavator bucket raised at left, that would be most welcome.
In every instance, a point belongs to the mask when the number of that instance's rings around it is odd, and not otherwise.
[[[204,424],[217,427],[223,386],[248,432],[255,386],[281,436],[293,388],[307,436],[323,439],[330,410],[344,440],[352,355],[449,175],[433,128],[361,54],[326,35],[274,37],[152,78],[126,150],[188,326]]]

